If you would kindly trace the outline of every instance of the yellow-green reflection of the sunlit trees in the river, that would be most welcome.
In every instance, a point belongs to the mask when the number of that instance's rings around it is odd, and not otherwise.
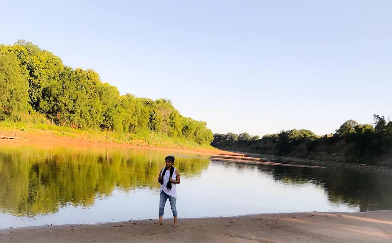
[[[114,189],[158,188],[167,152],[123,148],[0,146],[0,210],[15,216],[90,206]],[[200,175],[209,159],[176,156],[183,177]]]

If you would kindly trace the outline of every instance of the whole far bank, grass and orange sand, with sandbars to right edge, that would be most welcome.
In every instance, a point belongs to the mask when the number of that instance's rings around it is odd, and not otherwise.
[[[40,127],[41,125],[38,126]],[[300,157],[274,156],[250,152],[235,152],[219,150],[217,148],[207,145],[200,146],[193,142],[184,142],[183,139],[165,139],[160,139],[159,135],[157,135],[156,138],[152,137],[150,139],[124,139],[123,137],[118,137],[118,134],[102,131],[81,131],[71,129],[69,127],[58,127],[51,125],[44,125],[41,128],[37,128],[34,127],[34,124],[31,123],[12,123],[10,126],[7,126],[7,123],[0,122],[0,143],[24,143],[39,147],[50,147],[54,145],[122,147],[211,155],[212,158],[215,160],[238,163],[274,164],[288,166],[288,164],[279,164],[276,162],[268,161],[270,159],[272,161],[278,160],[301,163],[300,165],[291,164],[291,166],[345,166],[351,168],[392,173],[392,168],[387,166],[334,162],[325,161],[322,159],[307,159]]]

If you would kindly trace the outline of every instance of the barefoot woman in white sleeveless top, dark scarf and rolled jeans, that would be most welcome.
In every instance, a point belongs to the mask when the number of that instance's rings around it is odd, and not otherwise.
[[[173,227],[177,227],[177,191],[176,186],[180,184],[180,173],[177,168],[174,168],[174,156],[167,156],[165,158],[166,167],[163,168],[158,175],[158,182],[161,184],[160,199],[159,199],[159,223],[162,225],[163,210],[167,199],[169,199],[170,206],[173,212],[174,224]]]

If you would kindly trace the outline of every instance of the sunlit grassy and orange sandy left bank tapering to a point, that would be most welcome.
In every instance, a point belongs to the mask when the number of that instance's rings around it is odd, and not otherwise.
[[[40,124],[38,126],[35,127],[34,124],[30,123],[12,123],[10,126],[7,126],[7,123],[0,122],[0,143],[24,143],[40,147],[54,145],[123,147],[168,152],[186,151],[187,153],[206,155],[243,155],[236,152],[218,150],[212,146],[201,146],[191,141],[183,141],[183,139],[163,138],[159,134],[150,134],[151,137],[147,139],[124,139],[124,137],[110,132],[81,131],[69,127],[51,125],[41,127]]]

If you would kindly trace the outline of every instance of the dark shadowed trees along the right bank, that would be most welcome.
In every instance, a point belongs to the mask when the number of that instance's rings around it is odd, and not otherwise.
[[[375,162],[392,155],[392,121],[374,114],[374,126],[354,120],[343,123],[334,134],[318,136],[306,129],[282,130],[260,139],[247,132],[214,134],[212,146],[260,154],[307,157],[311,153],[337,154],[352,162]],[[333,156],[332,156],[333,157]],[[336,158],[336,157],[335,157]]]

